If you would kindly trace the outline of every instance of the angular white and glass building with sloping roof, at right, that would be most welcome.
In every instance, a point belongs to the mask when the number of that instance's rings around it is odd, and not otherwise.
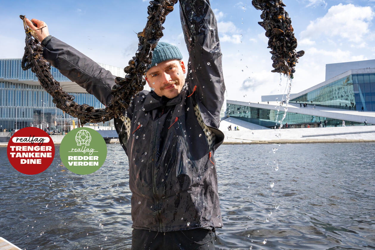
[[[368,67],[360,68],[363,66]],[[289,103],[294,106],[286,112],[284,107],[275,106],[275,100],[284,97],[273,95],[262,96],[261,104],[227,100],[226,115],[269,128],[279,126],[283,117],[282,123],[288,127],[317,127],[324,120],[327,126],[342,126],[343,121],[345,126],[364,125],[365,120],[375,123],[375,115],[358,112],[375,111],[375,60],[329,64],[327,70],[338,75],[291,94]],[[310,109],[302,108],[303,103]],[[317,109],[312,109],[314,105]]]

